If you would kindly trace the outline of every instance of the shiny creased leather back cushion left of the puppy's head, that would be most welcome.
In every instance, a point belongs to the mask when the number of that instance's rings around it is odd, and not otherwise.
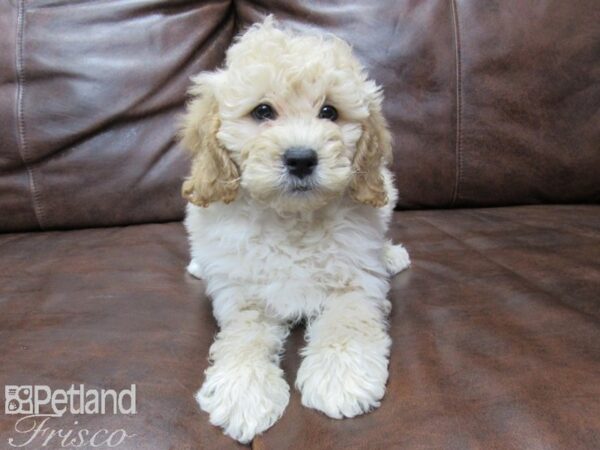
[[[178,114],[233,37],[228,2],[1,3],[0,229],[181,218]]]

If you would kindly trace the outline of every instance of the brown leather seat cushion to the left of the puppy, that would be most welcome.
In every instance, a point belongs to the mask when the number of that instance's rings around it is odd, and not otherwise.
[[[4,234],[0,252],[2,398],[7,384],[136,384],[136,415],[69,414],[47,426],[137,434],[123,450],[236,447],[193,398],[216,328],[203,284],[185,273],[180,223]],[[14,431],[16,417],[0,415],[0,448],[31,436]],[[41,442],[24,448],[61,448]]]

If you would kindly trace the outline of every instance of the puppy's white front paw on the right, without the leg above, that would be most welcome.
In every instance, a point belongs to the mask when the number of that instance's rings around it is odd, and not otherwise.
[[[296,386],[302,404],[334,419],[354,417],[379,406],[388,377],[387,357],[351,349],[321,350],[306,356]]]

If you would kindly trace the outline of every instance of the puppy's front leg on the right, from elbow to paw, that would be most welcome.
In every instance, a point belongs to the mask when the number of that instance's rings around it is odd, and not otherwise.
[[[379,406],[391,345],[387,311],[387,300],[358,292],[328,299],[306,332],[308,345],[296,380],[305,406],[336,419]]]

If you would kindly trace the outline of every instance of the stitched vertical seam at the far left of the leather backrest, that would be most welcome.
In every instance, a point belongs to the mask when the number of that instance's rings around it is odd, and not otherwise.
[[[19,2],[17,11],[17,51],[16,51],[16,72],[17,72],[17,136],[18,149],[21,160],[27,170],[29,177],[29,189],[31,190],[31,205],[35,218],[40,229],[43,226],[43,211],[41,208],[39,192],[35,182],[34,170],[31,167],[29,155],[27,153],[27,139],[25,137],[25,118],[23,114],[23,92],[25,90],[25,69],[23,64],[23,46],[25,35],[25,0]]]

